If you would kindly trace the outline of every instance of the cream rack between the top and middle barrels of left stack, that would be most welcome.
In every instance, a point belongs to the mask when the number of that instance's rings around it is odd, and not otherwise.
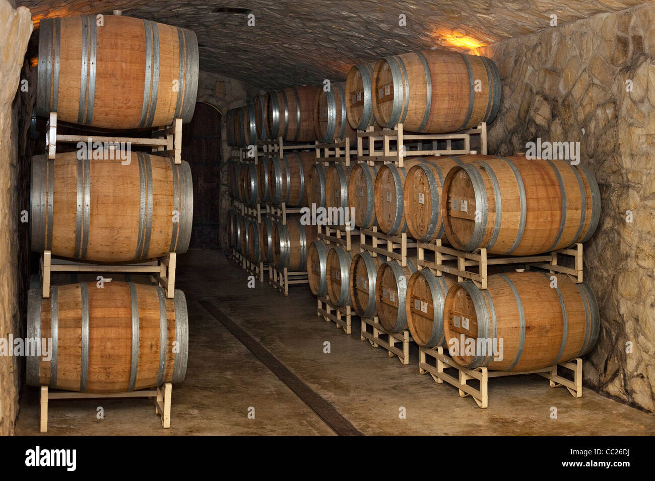
[[[46,149],[48,159],[55,158],[57,143],[101,142],[121,143],[129,142],[134,145],[153,147],[153,153],[162,157],[170,157],[175,164],[181,164],[182,152],[182,119],[176,118],[169,127],[159,127],[148,132],[149,137],[116,137],[108,135],[64,135],[57,134],[57,113],[50,112],[46,135]]]

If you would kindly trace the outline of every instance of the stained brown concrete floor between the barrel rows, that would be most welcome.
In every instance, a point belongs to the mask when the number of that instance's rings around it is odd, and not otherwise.
[[[48,435],[334,435],[290,388],[201,305],[214,301],[365,435],[654,435],[655,416],[584,389],[575,399],[536,375],[489,382],[489,408],[460,399],[451,385],[316,317],[309,287],[284,297],[269,284],[248,289],[246,272],[218,251],[178,258],[177,287],[189,308],[189,363],[173,388],[170,429],[153,401],[51,401]],[[331,353],[324,354],[324,342]],[[96,418],[102,406],[104,419]],[[248,419],[248,408],[255,419]],[[399,419],[404,406],[407,418]],[[557,419],[550,418],[557,407]],[[38,389],[24,387],[17,435],[39,434]]]

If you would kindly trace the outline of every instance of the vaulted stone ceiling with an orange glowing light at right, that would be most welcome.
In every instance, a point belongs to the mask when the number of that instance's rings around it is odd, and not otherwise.
[[[41,18],[109,14],[147,18],[196,32],[200,69],[263,88],[343,80],[354,63],[443,46],[489,45],[644,0],[18,0]],[[244,13],[218,9],[250,9]],[[400,16],[405,26],[400,26]],[[36,34],[38,35],[38,34]]]

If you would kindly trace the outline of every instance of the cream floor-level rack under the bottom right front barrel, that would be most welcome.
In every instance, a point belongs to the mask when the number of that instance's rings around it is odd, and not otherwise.
[[[428,358],[432,362],[428,362]],[[573,380],[564,378],[557,374],[557,366],[571,370]],[[457,377],[444,372],[444,369],[453,368],[457,371]],[[566,363],[559,363],[547,366],[530,372],[505,372],[490,371],[486,367],[468,369],[458,365],[453,358],[443,353],[443,347],[419,346],[419,372],[429,372],[432,378],[439,384],[447,382],[459,389],[460,397],[472,397],[480,408],[487,408],[489,405],[489,379],[502,378],[506,376],[518,376],[519,374],[539,374],[550,381],[550,387],[566,387],[573,397],[582,397],[582,359],[576,357]],[[468,384],[470,380],[477,380],[479,388]]]

